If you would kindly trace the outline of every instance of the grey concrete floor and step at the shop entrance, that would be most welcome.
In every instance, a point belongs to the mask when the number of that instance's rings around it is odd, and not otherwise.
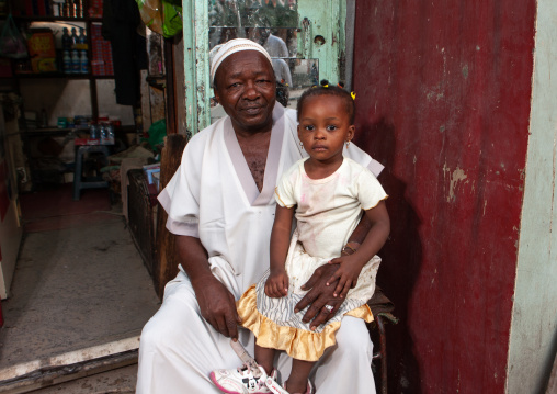
[[[71,221],[50,215],[45,230],[34,221],[35,232],[24,235],[10,297],[2,301],[0,383],[21,365],[49,365],[59,354],[81,352],[87,359],[82,349],[102,352],[105,344],[117,348],[126,341],[136,347],[159,307],[124,218],[78,211]],[[135,374],[133,365],[120,368],[41,392],[127,393],[135,390]]]

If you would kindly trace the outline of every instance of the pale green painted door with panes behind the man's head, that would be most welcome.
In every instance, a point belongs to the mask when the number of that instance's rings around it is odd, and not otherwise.
[[[186,125],[192,134],[223,115],[218,105],[212,105],[209,50],[227,40],[264,43],[287,106],[295,106],[299,93],[320,79],[341,79],[345,0],[182,0],[182,4]]]

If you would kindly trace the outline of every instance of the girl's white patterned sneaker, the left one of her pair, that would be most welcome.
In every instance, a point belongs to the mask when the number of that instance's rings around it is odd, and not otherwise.
[[[272,391],[265,381],[268,378],[276,381],[277,375],[276,370],[268,376],[262,367],[253,368],[250,363],[245,363],[236,370],[213,371],[209,376],[213,383],[227,394],[270,394]]]

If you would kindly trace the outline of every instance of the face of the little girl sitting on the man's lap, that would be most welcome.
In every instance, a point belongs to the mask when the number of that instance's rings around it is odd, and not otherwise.
[[[309,156],[323,164],[342,160],[342,148],[354,136],[346,105],[336,95],[315,95],[302,106],[298,138]]]

